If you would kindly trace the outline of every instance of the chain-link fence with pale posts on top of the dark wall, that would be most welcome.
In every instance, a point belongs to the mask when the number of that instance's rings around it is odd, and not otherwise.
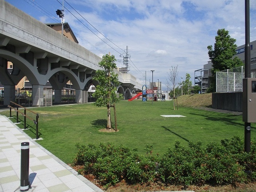
[[[216,92],[242,92],[244,66],[216,72]],[[251,65],[251,78],[256,78],[256,64]]]

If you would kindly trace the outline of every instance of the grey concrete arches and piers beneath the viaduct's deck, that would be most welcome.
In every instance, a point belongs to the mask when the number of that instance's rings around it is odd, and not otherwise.
[[[51,69],[52,63],[48,62],[47,57],[41,58],[43,61],[38,64],[38,58],[35,58],[33,53],[30,53],[30,58],[27,60],[19,54],[1,49],[0,57],[0,81],[5,89],[4,105],[9,105],[10,101],[14,101],[15,85],[17,85],[24,76],[27,76],[32,85],[33,93],[36,93],[32,95],[33,105],[38,105],[39,102],[43,101],[43,86],[46,85],[47,81],[50,82],[54,89],[55,103],[61,102],[61,90],[69,80],[72,82],[74,89],[76,89],[77,103],[79,103],[81,90],[88,90],[90,85],[93,84],[96,86],[98,84],[97,81],[93,80],[91,74],[89,77],[86,77],[88,74],[76,74],[72,70],[64,67]],[[11,74],[7,70],[7,60],[14,64]],[[40,70],[41,73],[43,71],[43,74],[39,73]],[[81,76],[81,74],[83,74],[83,76]],[[121,85],[117,88],[117,92],[125,95],[125,99],[131,97],[131,90],[127,88],[126,91],[124,91],[124,87]]]

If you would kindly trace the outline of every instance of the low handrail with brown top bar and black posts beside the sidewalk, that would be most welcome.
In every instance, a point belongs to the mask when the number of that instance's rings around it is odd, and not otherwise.
[[[12,107],[12,106],[11,106],[12,103],[13,103],[14,105],[16,105],[17,107],[16,107],[16,108],[15,108],[15,107]],[[26,127],[26,118],[29,118],[30,120],[32,120],[32,121],[34,122],[34,124],[36,125],[36,139],[38,139],[38,138],[39,138],[39,137],[38,137],[38,118],[39,118],[39,114],[36,113],[36,112],[34,112],[34,111],[31,111],[31,110],[29,110],[29,109],[27,109],[27,108],[25,108],[25,107],[23,107],[23,106],[21,106],[21,105],[19,105],[19,104],[17,104],[17,103],[14,103],[14,102],[12,102],[12,101],[10,101],[10,105],[8,105],[8,107],[10,107],[10,117],[12,117],[12,109],[14,109],[14,110],[17,112],[17,113],[16,113],[16,117],[17,117],[16,122],[17,122],[17,123],[19,122],[19,120],[18,120],[18,119],[19,119],[19,113],[21,113],[21,114],[24,116],[24,129],[27,128],[27,127]],[[23,109],[24,109],[24,112],[19,111],[19,107],[23,108]],[[36,115],[36,120],[33,119],[32,117],[28,116],[28,115],[26,114],[26,111],[29,111],[29,112],[35,114],[35,115]]]

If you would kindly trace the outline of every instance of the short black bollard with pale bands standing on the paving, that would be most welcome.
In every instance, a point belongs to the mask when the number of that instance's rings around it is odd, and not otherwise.
[[[29,187],[29,142],[22,142],[20,163],[20,191],[28,191]]]

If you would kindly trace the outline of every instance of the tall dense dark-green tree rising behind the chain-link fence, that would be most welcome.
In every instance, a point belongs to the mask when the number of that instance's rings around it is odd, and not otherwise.
[[[235,44],[236,39],[233,39],[229,35],[229,31],[225,29],[219,29],[217,31],[217,36],[215,36],[214,50],[212,45],[209,45],[208,55],[209,59],[213,63],[213,68],[211,69],[212,76],[209,77],[210,86],[208,92],[216,91],[216,72],[227,70],[243,65],[243,62],[235,57],[237,45]]]

